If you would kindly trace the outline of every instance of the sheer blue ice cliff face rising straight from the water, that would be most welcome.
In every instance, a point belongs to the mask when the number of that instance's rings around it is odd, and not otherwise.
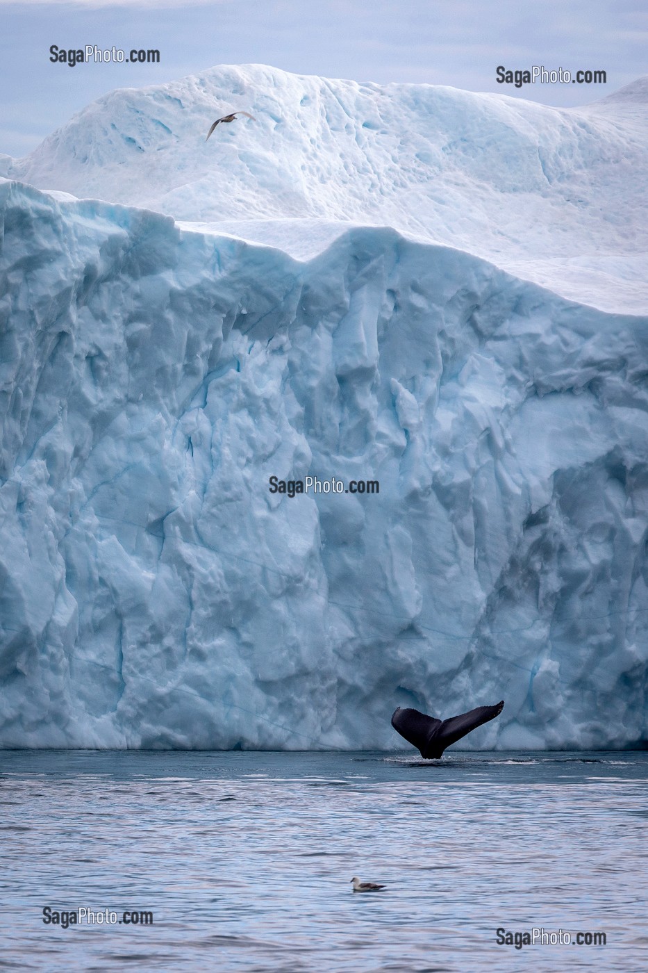
[[[392,747],[397,704],[502,698],[466,745],[648,737],[645,312],[359,214],[259,245],[56,172],[0,181],[0,745]],[[308,474],[380,492],[269,492]]]

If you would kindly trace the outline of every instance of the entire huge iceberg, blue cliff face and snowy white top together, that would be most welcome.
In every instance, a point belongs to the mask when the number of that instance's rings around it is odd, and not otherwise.
[[[502,698],[464,745],[648,738],[629,88],[220,68],[4,163],[0,745],[386,749]],[[208,155],[218,105],[261,121]]]

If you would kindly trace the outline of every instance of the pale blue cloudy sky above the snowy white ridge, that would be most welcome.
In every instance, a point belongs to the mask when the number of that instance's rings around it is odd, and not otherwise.
[[[53,63],[50,48],[158,49],[159,64]],[[646,0],[0,0],[0,153],[23,156],[115,88],[216,64],[587,104],[648,73]],[[498,84],[496,68],[603,70],[606,84]]]

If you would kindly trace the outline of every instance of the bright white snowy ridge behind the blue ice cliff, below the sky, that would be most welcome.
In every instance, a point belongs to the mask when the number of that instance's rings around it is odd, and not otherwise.
[[[214,119],[237,109],[257,121],[218,126],[205,142]],[[25,159],[0,158],[0,175],[294,256],[314,255],[349,221],[389,226],[572,300],[648,307],[648,76],[558,109],[222,66],[113,91]]]

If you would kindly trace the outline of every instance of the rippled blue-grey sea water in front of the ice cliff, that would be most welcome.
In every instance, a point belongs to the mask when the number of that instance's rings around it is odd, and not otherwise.
[[[6,969],[648,969],[646,752],[2,751],[0,784]]]

